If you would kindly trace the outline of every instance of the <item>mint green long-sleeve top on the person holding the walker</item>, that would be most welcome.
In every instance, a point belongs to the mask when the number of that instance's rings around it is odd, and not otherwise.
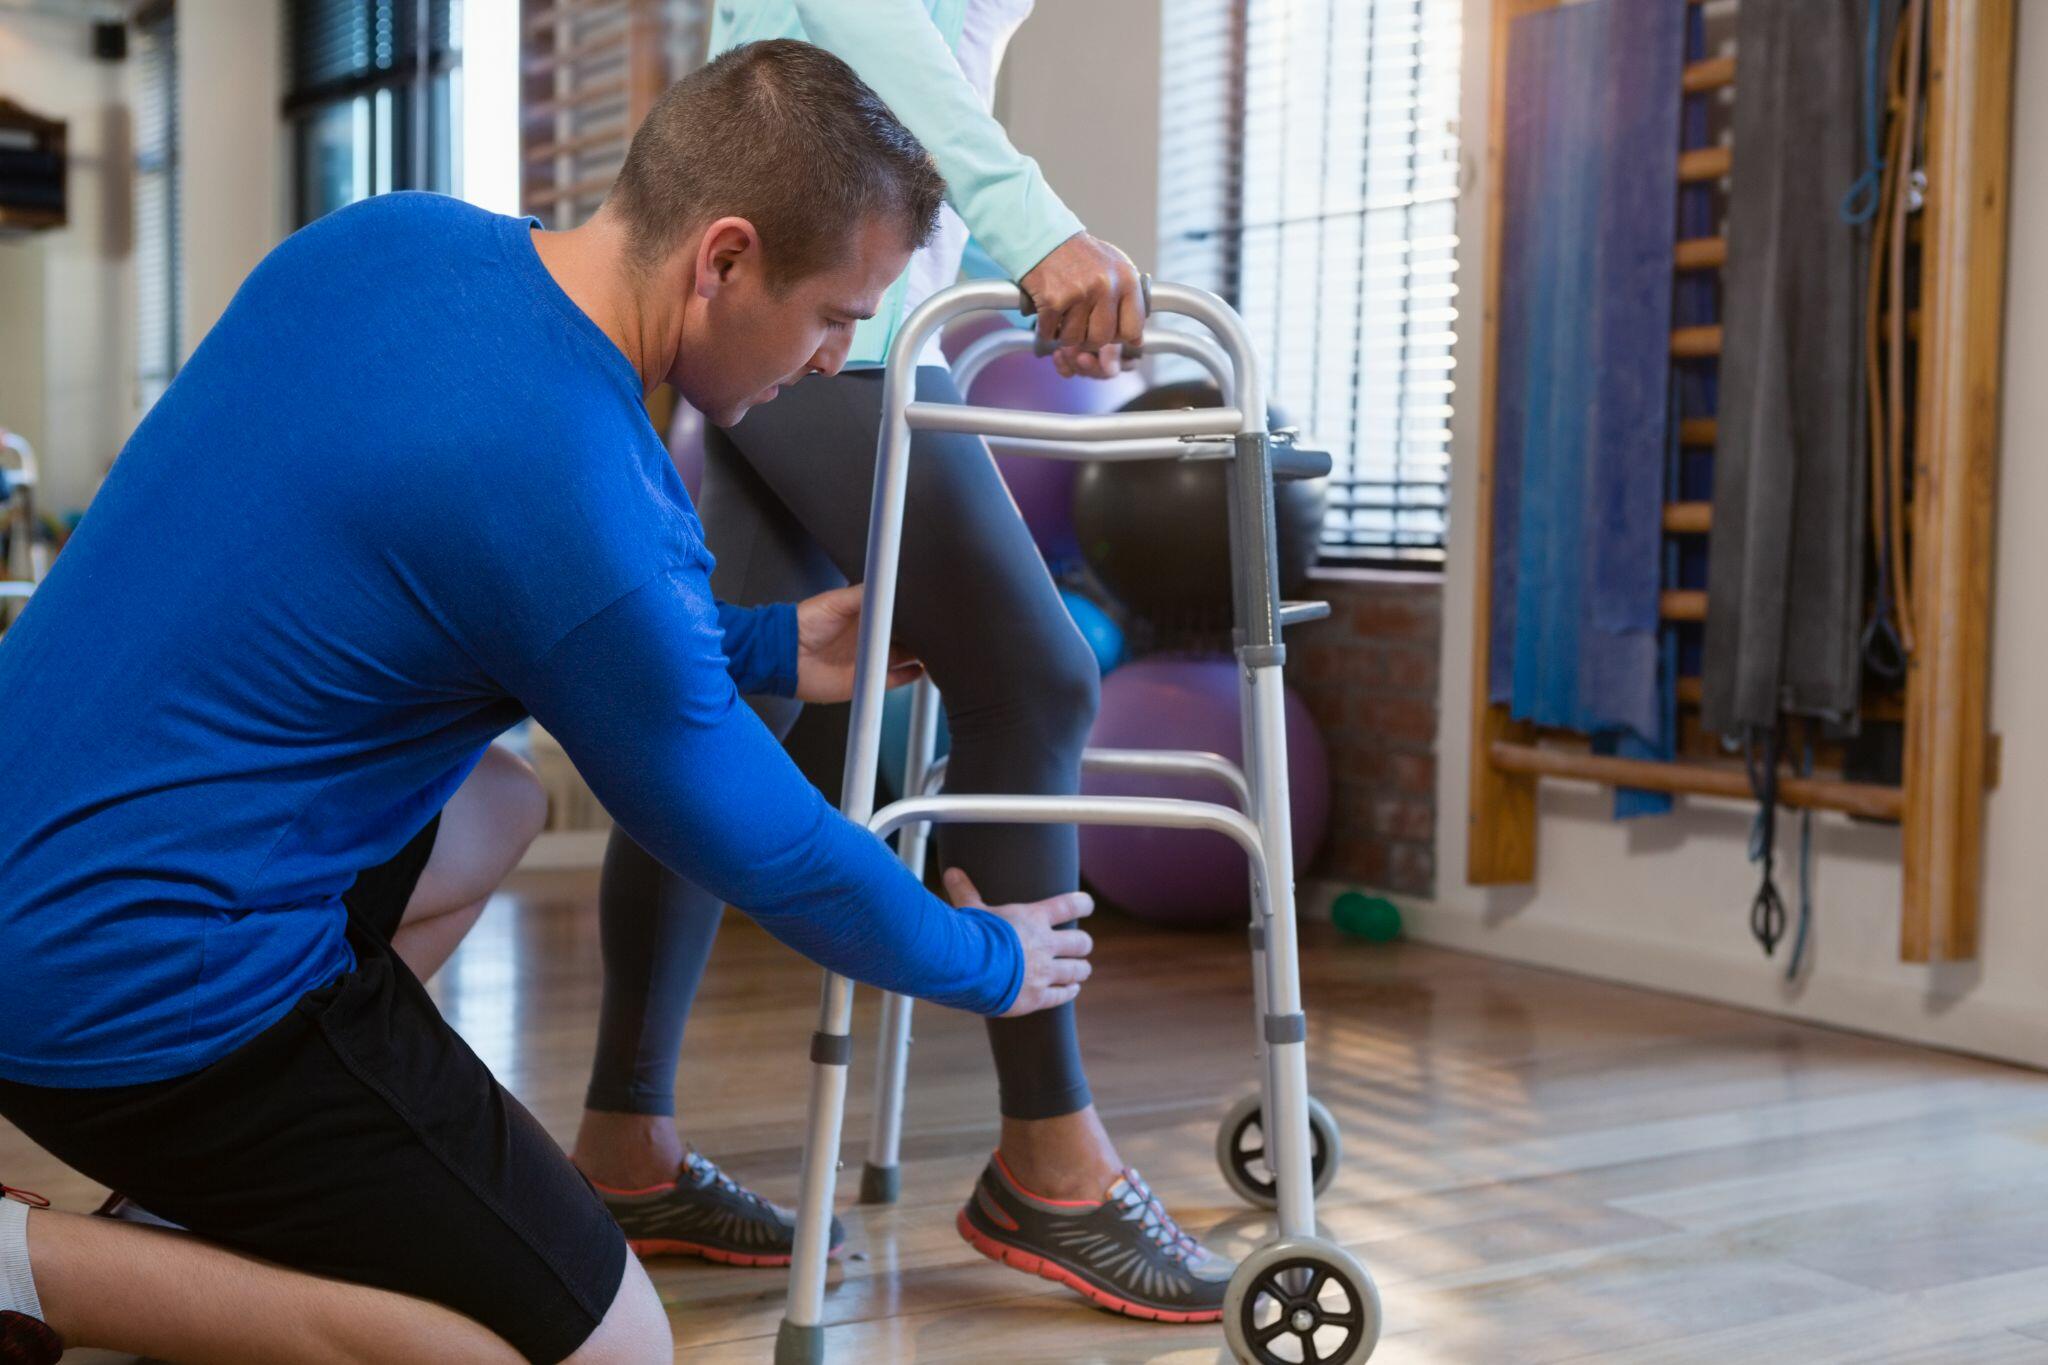
[[[946,201],[983,250],[1022,278],[1081,219],[1047,184],[961,70],[954,49],[975,0],[723,0],[711,55],[760,39],[803,39],[846,61],[922,141],[946,178]],[[989,74],[993,82],[993,72]],[[954,262],[956,266],[956,262]],[[903,323],[911,274],[889,287],[854,332],[848,364],[881,364]]]

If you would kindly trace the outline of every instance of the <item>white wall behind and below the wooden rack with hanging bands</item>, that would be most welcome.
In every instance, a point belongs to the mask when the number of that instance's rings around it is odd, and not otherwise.
[[[1491,4],[1466,4],[1464,127],[1468,166],[1483,156]],[[2023,10],[2030,6],[2021,6]],[[2028,23],[2032,18],[2034,23]],[[1475,888],[1464,876],[1473,544],[1454,534],[1444,598],[1438,900],[1411,909],[1419,937],[1735,1005],[1964,1048],[2048,1066],[2048,614],[2032,585],[2048,581],[2048,469],[2034,434],[2048,430],[2048,23],[2021,14],[2013,151],[2011,266],[2003,393],[2003,473],[1995,604],[1993,726],[2005,737],[2003,786],[1989,808],[1982,956],[1976,964],[1898,962],[1898,833],[1819,817],[1815,827],[1812,972],[1786,986],[1749,939],[1757,876],[1745,860],[1749,810],[1694,802],[1673,817],[1618,825],[1606,794],[1546,784],[1538,880]],[[1452,505],[1477,495],[1485,291],[1485,203],[1468,174],[1460,287]],[[1468,520],[1454,520],[1468,526]],[[2034,686],[2030,686],[2034,684]],[[1780,888],[1796,884],[1796,819],[1780,825]]]

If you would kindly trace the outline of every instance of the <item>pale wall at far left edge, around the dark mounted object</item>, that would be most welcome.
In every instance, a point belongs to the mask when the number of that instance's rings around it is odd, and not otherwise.
[[[45,512],[84,505],[135,424],[127,74],[82,18],[0,10],[0,92],[68,123],[70,223],[0,237],[0,422],[37,450]]]

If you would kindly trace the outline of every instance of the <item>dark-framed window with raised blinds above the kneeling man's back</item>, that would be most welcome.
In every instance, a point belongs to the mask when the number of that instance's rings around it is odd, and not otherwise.
[[[453,0],[287,0],[299,223],[389,190],[455,188]]]

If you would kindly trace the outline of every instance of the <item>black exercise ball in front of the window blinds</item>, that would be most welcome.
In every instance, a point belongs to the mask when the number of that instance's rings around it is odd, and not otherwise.
[[[1163,385],[1122,411],[1219,407],[1210,383]],[[1278,407],[1270,426],[1284,426]],[[1073,534],[1110,593],[1161,630],[1231,626],[1229,460],[1083,465],[1073,483]],[[1298,596],[1323,534],[1327,479],[1274,485],[1280,591]]]

